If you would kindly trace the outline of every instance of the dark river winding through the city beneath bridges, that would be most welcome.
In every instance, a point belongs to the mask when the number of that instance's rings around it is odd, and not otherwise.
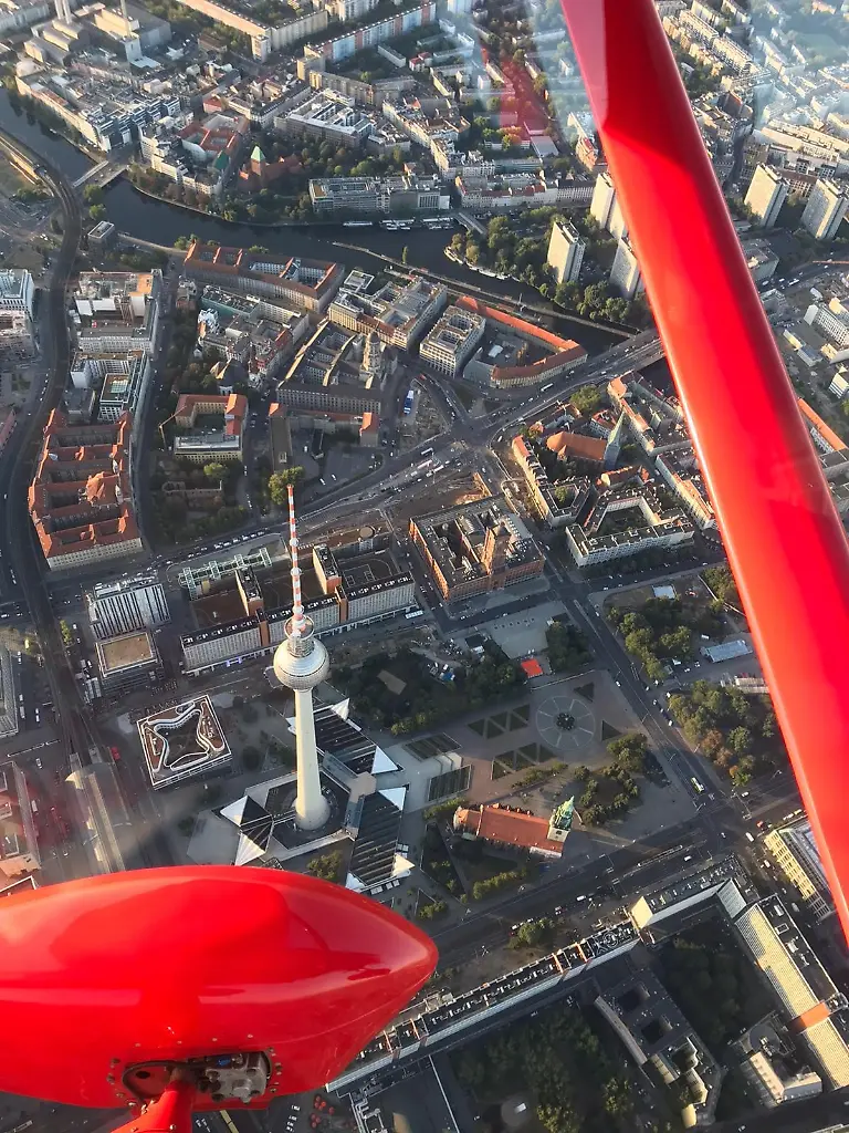
[[[0,128],[44,154],[72,180],[92,165],[85,154],[28,114],[17,101],[9,97],[6,90],[1,88]],[[460,264],[452,263],[443,255],[452,236],[446,229],[387,232],[380,228],[343,228],[326,224],[320,228],[309,225],[267,228],[258,224],[229,223],[147,197],[135,189],[126,178],[110,186],[104,195],[104,204],[109,220],[120,232],[155,244],[173,244],[180,236],[195,233],[203,240],[213,240],[216,244],[246,248],[259,244],[278,255],[302,256],[305,259],[335,259],[367,272],[375,272],[380,267],[380,261],[370,256],[367,249],[400,261],[402,250],[406,247],[410,266],[426,269],[458,284],[477,286],[514,303],[517,288],[522,290],[520,284],[470,272]],[[358,245],[359,248],[353,249],[343,245]],[[524,293],[529,301],[550,309],[549,315],[532,315],[532,318],[559,334],[575,339],[591,353],[598,353],[621,341],[619,335],[611,334],[603,327],[585,326],[560,314],[529,287],[524,288]]]

